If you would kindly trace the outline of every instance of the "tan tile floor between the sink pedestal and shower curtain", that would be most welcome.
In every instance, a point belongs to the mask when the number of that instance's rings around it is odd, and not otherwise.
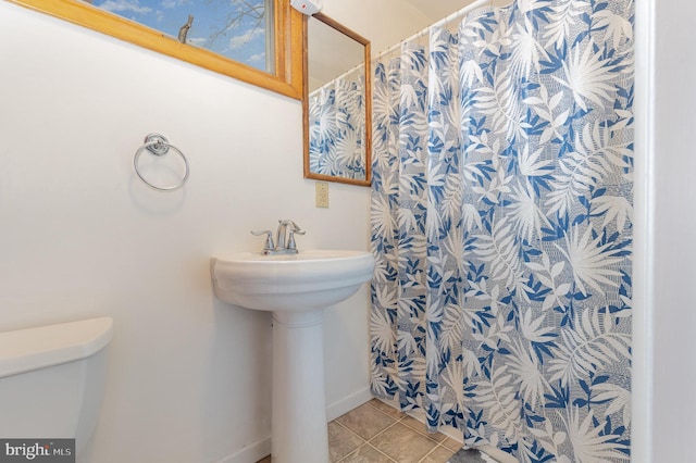
[[[446,463],[461,446],[377,399],[328,423],[332,463]]]

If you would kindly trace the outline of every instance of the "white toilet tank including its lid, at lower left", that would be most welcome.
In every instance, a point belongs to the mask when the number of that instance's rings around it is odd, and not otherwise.
[[[0,438],[89,442],[105,373],[110,317],[0,333]]]

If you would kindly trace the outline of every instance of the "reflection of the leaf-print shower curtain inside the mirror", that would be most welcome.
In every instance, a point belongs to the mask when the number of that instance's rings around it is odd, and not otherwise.
[[[309,166],[314,174],[365,179],[364,66],[309,95]]]

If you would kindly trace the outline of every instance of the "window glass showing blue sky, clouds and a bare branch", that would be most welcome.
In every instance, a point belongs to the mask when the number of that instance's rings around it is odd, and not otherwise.
[[[273,74],[273,0],[83,0]]]

